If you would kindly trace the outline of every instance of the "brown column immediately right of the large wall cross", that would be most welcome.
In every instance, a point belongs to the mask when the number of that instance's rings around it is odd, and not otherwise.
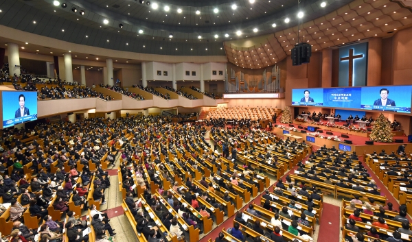
[[[367,54],[367,86],[379,86],[382,73],[382,38],[369,39]]]

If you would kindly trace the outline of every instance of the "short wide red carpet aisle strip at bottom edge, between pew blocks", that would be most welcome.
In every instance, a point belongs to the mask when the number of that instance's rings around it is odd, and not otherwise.
[[[339,242],[341,208],[323,203],[318,242]]]

